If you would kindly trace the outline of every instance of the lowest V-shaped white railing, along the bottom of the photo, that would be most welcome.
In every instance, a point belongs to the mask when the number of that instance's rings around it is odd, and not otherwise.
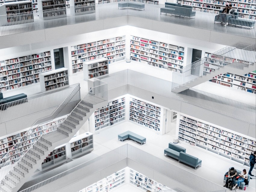
[[[176,165],[168,163],[167,161],[140,150],[130,144],[125,144],[20,192],[31,192],[36,189],[39,189],[40,191],[47,191],[49,188],[52,192],[61,191],[65,187],[87,178],[96,172],[106,169],[126,158],[198,192],[226,191],[226,189],[223,189],[220,185],[208,181]],[[125,166],[131,166],[131,168],[133,168],[129,163]],[[175,172],[175,174],[173,174],[173,172]],[[168,192],[171,192],[171,190]]]

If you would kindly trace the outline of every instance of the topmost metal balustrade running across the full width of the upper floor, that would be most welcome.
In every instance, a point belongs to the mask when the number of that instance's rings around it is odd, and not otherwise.
[[[133,5],[130,7],[123,7],[121,5],[123,2],[133,2]],[[141,8],[141,4],[145,5],[145,7]],[[175,11],[167,11],[165,13],[163,12],[165,9],[173,9]],[[227,21],[230,23],[230,25],[228,27],[223,27],[223,25],[218,22],[217,18],[226,17],[226,15],[216,11],[189,9],[184,7],[177,8],[169,5],[156,5],[145,2],[142,3],[140,1],[127,0],[2,15],[0,16],[0,36],[125,15],[161,21],[164,23],[190,26],[199,29],[207,29],[238,36],[251,38],[255,38],[256,36],[255,23],[253,27],[251,27],[249,24],[250,22],[255,22],[255,19],[253,18],[250,19],[247,17],[235,16],[237,21],[236,23],[232,24],[232,17],[229,15],[228,17],[231,17],[231,19],[230,21],[229,19]],[[215,20],[217,20],[217,22]]]

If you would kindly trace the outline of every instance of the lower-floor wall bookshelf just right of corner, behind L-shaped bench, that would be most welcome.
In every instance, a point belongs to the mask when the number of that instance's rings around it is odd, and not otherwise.
[[[156,132],[160,131],[161,108],[130,98],[130,121],[137,122]]]

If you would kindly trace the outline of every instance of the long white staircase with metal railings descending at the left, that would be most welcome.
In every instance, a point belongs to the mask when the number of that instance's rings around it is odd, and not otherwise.
[[[0,160],[2,163],[0,166],[1,189],[8,191],[15,188],[30,169],[36,169],[34,165],[37,161],[40,162],[40,157],[44,156],[49,149],[56,147],[52,146],[56,145],[55,142],[63,139],[70,140],[73,137],[76,131],[72,130],[80,129],[93,113],[91,109],[94,105],[97,107],[97,104],[108,101],[106,83],[95,80],[94,84],[97,85],[93,87],[94,91],[88,93],[82,100],[80,100],[80,86],[74,89],[52,115],[37,120],[31,129],[9,149]],[[51,130],[41,129],[48,124],[51,125]],[[36,133],[38,130],[41,130],[40,134]]]

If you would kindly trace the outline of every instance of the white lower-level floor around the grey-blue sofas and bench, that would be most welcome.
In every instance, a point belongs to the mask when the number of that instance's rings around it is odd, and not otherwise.
[[[80,158],[73,159],[69,163],[65,163],[53,170],[45,171],[45,172],[36,172],[33,178],[30,178],[30,181],[23,185],[23,189],[27,188],[33,184],[36,184],[40,181],[48,179],[58,173],[64,172],[67,169],[70,169],[76,165],[84,163],[90,159],[93,159],[101,154],[104,154],[110,150],[113,150],[117,147],[122,146],[123,144],[129,143],[141,150],[144,150],[152,155],[158,156],[159,158],[164,159],[165,161],[172,163],[176,166],[180,166],[183,169],[186,169],[190,172],[195,173],[209,181],[212,181],[219,185],[224,185],[223,183],[223,174],[228,171],[229,167],[234,166],[236,169],[242,170],[246,169],[248,171],[249,167],[243,166],[240,163],[231,161],[225,157],[218,156],[214,153],[211,153],[207,150],[201,149],[199,147],[195,147],[186,143],[179,143],[178,145],[186,148],[186,153],[191,154],[193,156],[198,157],[202,160],[202,166],[194,169],[192,167],[186,166],[183,163],[179,163],[177,160],[164,156],[164,149],[168,147],[168,143],[173,141],[175,132],[175,123],[172,124],[171,131],[164,135],[158,135],[155,132],[145,129],[142,126],[139,126],[133,122],[123,122],[121,124],[111,126],[109,129],[105,129],[104,131],[94,135],[94,150],[84,155]],[[139,135],[146,137],[146,144],[140,145],[136,144],[131,140],[125,140],[123,142],[117,140],[117,135],[130,130]],[[81,133],[81,132],[80,132]],[[143,173],[142,173],[143,174]],[[255,169],[252,172],[255,174]],[[161,183],[161,181],[158,181]],[[164,183],[163,183],[164,184]],[[176,186],[168,186],[167,187],[175,188]],[[83,186],[86,187],[86,186]],[[256,190],[256,178],[253,177],[250,180],[250,184],[246,187],[246,191],[255,192]],[[189,191],[187,191],[189,192]]]

